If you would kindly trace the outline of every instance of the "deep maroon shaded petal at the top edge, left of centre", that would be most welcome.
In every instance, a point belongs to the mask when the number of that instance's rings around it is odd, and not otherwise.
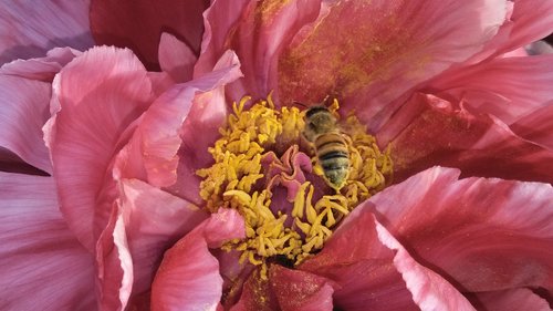
[[[93,0],[91,28],[97,44],[132,49],[149,70],[159,70],[158,46],[167,32],[199,52],[207,0]]]

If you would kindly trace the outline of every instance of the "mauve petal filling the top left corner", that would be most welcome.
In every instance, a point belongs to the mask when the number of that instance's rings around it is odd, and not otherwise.
[[[0,2],[0,64],[42,56],[55,46],[77,50],[92,46],[88,2]]]

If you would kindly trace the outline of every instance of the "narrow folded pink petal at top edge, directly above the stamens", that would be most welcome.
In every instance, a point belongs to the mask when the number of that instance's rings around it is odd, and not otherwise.
[[[237,52],[244,79],[228,91],[234,100],[265,97],[278,86],[278,56],[300,29],[319,15],[321,1],[213,1],[195,74],[208,72],[227,50]]]

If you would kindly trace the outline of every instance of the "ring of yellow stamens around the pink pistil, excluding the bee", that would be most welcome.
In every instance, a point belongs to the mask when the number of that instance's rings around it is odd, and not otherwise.
[[[349,116],[344,133],[351,154],[346,186],[341,193],[323,195],[313,205],[315,187],[303,182],[291,203],[291,212],[275,212],[282,209],[271,206],[273,191],[268,188],[269,178],[263,178],[267,175],[262,158],[268,152],[279,153],[291,145],[298,151],[304,112],[296,107],[276,111],[270,95],[246,110],[249,100],[233,104],[233,114],[220,129],[221,138],[209,148],[215,164],[197,174],[204,178],[200,196],[207,210],[234,208],[244,218],[246,238],[231,240],[223,248],[241,251],[241,262],[261,266],[265,276],[269,258],[279,256],[298,265],[320,250],[344,216],[384,188],[392,174],[392,162],[389,152],[380,153],[375,138],[365,133],[355,116]],[[338,108],[337,101],[331,108]]]

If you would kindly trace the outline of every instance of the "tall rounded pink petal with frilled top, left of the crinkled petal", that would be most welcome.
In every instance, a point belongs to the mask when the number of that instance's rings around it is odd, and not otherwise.
[[[102,46],[67,64],[53,90],[54,116],[44,135],[61,210],[77,238],[93,249],[114,199],[111,162],[127,139],[122,137],[125,128],[150,104],[152,86],[129,50]]]

